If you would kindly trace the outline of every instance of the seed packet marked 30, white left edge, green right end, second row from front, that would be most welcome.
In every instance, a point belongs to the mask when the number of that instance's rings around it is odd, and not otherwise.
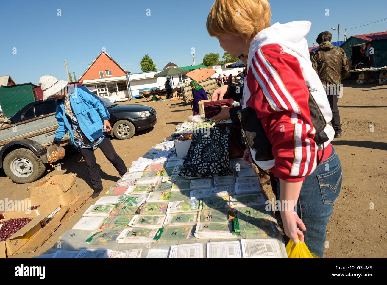
[[[160,228],[125,228],[116,240],[123,244],[154,242],[161,232]]]

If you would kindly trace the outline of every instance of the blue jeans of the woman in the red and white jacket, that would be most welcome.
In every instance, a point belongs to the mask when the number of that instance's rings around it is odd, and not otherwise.
[[[297,203],[297,214],[307,228],[305,244],[310,252],[320,258],[324,254],[325,232],[333,204],[339,196],[342,170],[333,146],[331,155],[315,171],[305,177]],[[279,183],[277,183],[279,195]]]

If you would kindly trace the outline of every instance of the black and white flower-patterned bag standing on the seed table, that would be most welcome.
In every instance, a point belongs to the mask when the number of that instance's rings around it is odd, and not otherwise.
[[[194,134],[179,175],[188,179],[229,175],[229,134],[229,127],[210,129],[207,136]]]

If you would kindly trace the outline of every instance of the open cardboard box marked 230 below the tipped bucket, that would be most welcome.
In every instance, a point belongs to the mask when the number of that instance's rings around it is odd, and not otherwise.
[[[35,182],[27,188],[30,197],[56,195],[62,207],[67,206],[78,196],[75,184],[75,173],[50,176],[46,180]],[[49,185],[50,182],[55,185]]]

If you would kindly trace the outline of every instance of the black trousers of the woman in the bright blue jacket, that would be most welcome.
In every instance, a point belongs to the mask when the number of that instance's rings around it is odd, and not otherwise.
[[[98,144],[98,147],[101,149],[102,153],[106,158],[110,161],[111,164],[116,168],[120,176],[124,175],[127,172],[127,168],[122,158],[117,155],[116,151],[113,148],[113,144],[111,144],[110,137],[105,136],[101,143]],[[102,180],[99,175],[99,171],[97,168],[96,156],[94,155],[93,148],[79,148],[79,151],[83,158],[85,159],[87,173],[89,173],[90,181],[92,184],[92,188],[102,189]]]

